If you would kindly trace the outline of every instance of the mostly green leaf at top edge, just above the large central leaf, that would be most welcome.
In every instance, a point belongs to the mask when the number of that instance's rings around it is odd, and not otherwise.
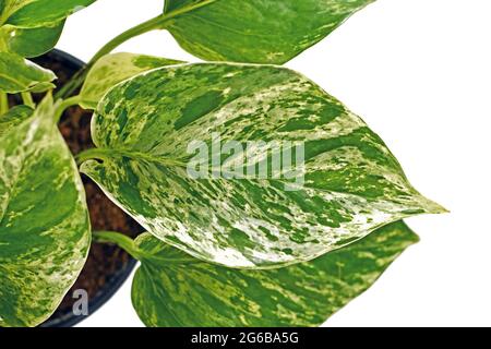
[[[168,0],[160,26],[209,61],[285,63],[374,0]]]

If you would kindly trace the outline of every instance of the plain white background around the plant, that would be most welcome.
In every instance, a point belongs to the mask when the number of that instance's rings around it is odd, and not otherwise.
[[[83,60],[161,0],[99,0],[58,48]],[[196,61],[165,32],[118,51]],[[452,210],[409,219],[421,242],[327,326],[491,325],[491,1],[379,0],[287,64],[378,132],[414,185]],[[82,326],[142,326],[129,280]]]

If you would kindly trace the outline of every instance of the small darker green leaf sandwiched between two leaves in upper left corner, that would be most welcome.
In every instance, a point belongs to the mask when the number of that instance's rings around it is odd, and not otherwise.
[[[14,52],[22,57],[38,57],[57,45],[63,31],[63,24],[20,29],[11,25],[0,27],[0,43],[4,51]]]

